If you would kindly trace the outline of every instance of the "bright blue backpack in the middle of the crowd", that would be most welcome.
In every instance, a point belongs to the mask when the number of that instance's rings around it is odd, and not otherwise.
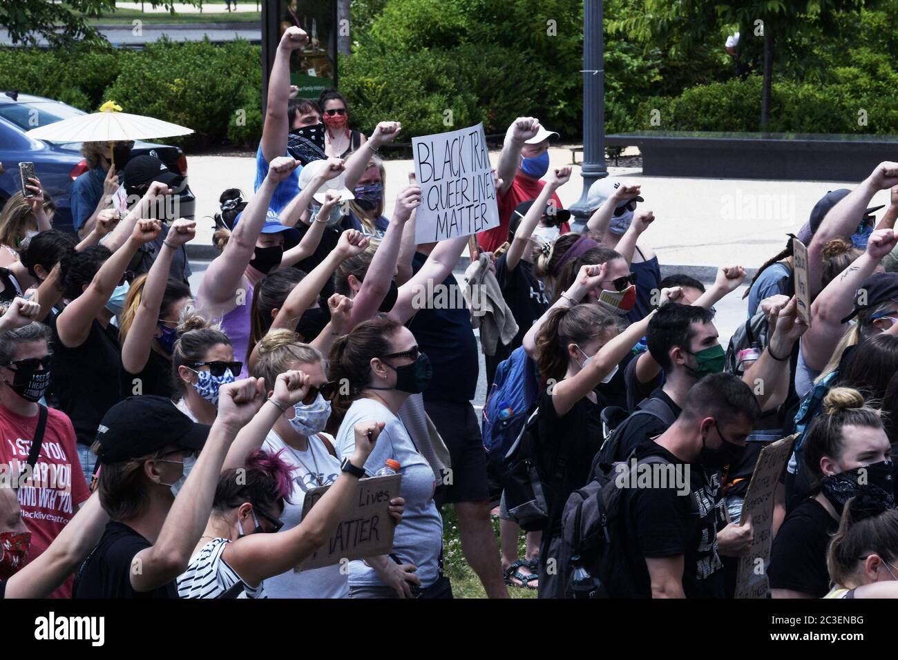
[[[487,471],[500,480],[509,448],[533,411],[540,390],[540,376],[536,365],[524,351],[515,348],[506,360],[499,363],[496,378],[483,406],[480,434],[487,448]]]

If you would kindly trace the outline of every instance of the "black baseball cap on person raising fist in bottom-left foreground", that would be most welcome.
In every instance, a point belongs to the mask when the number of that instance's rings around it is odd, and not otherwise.
[[[97,428],[97,457],[103,463],[128,461],[169,444],[199,451],[208,435],[209,427],[192,421],[167,397],[133,396],[103,415]]]

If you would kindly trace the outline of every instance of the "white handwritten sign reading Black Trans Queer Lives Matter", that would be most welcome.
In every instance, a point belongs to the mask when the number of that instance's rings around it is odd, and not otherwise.
[[[421,205],[415,216],[418,243],[445,241],[499,224],[496,184],[483,124],[413,137]]]

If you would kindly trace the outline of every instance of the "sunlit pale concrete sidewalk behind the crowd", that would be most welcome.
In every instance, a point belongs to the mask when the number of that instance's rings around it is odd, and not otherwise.
[[[497,163],[498,152],[492,152]],[[561,167],[570,163],[570,151],[550,149],[550,163]],[[386,209],[392,216],[397,193],[405,187],[412,162],[385,161]],[[870,170],[877,163],[870,163]],[[674,179],[643,177],[636,168],[609,168],[610,176],[642,185],[646,198],[640,207],[655,212],[656,222],[644,234],[642,244],[655,249],[658,260],[667,266],[707,268],[739,264],[756,268],[786,245],[786,234],[797,232],[810,215],[816,201],[828,190],[853,188],[857,181],[778,181],[733,179]],[[191,243],[194,259],[215,256],[211,247],[218,197],[227,188],[242,189],[248,198],[253,192],[255,158],[251,156],[188,156],[190,188],[197,196],[197,238]],[[565,207],[580,197],[583,182],[579,166],[571,180],[559,189]],[[873,199],[873,205],[889,203],[888,190]],[[885,212],[880,211],[879,214]],[[208,216],[207,218],[204,216]],[[205,247],[203,247],[205,246]],[[213,251],[210,251],[213,250]]]

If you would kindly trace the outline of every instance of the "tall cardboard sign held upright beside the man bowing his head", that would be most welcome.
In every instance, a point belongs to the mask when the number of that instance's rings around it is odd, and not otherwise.
[[[770,548],[773,545],[773,493],[779,483],[779,475],[792,455],[792,445],[797,434],[768,444],[761,450],[754,466],[752,480],[745,494],[740,521],[752,516],[752,550],[739,559],[736,575],[736,598],[767,598],[770,580]]]

